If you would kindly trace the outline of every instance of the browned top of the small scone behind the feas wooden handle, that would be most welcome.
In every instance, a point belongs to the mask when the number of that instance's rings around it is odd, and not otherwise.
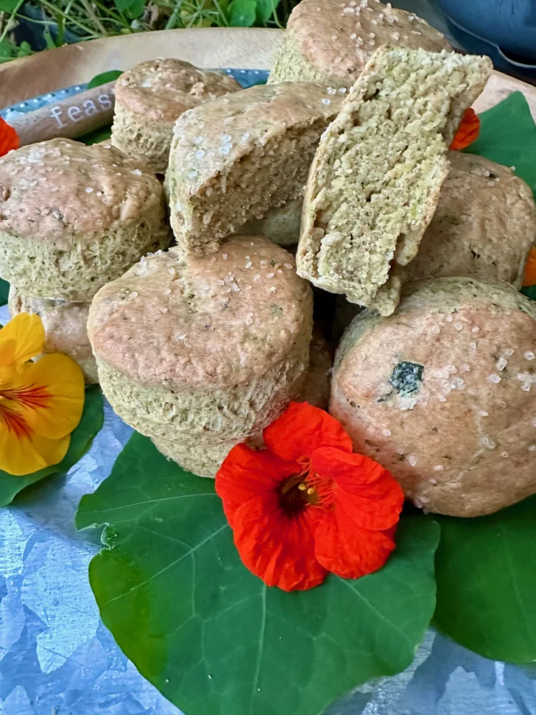
[[[131,112],[174,122],[187,109],[239,89],[239,83],[227,74],[197,69],[181,59],[153,59],[121,74],[115,96]]]

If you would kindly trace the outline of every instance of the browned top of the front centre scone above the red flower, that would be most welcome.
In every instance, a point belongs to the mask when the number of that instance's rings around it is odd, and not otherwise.
[[[311,320],[294,258],[236,236],[218,253],[177,249],[142,259],[96,294],[88,332],[97,358],[144,385],[244,385],[285,360]]]

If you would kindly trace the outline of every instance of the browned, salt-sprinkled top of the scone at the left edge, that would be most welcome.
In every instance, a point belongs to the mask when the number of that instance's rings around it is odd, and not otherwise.
[[[80,240],[161,207],[157,177],[109,144],[50,139],[0,159],[0,232]]]

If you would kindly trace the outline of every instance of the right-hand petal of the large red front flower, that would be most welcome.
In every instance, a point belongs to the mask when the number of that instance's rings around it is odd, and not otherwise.
[[[404,492],[381,464],[362,454],[323,447],[312,453],[311,468],[334,481],[335,511],[344,504],[357,527],[382,531],[397,523]]]

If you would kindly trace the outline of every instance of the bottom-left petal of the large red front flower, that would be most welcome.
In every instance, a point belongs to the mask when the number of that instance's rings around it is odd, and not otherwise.
[[[234,543],[240,558],[267,586],[303,591],[324,581],[326,570],[314,556],[308,511],[289,518],[272,494],[250,499],[234,513]]]

